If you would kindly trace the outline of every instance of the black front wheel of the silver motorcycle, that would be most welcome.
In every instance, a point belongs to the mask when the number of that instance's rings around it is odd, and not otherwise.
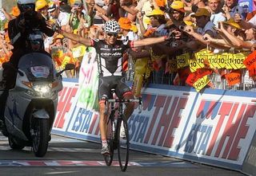
[[[49,120],[34,118],[32,123],[32,147],[34,155],[43,157],[49,143]]]

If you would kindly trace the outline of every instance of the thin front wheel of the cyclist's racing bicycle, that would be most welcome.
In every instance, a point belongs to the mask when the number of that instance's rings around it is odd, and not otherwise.
[[[124,172],[127,169],[129,162],[130,139],[128,124],[125,115],[118,118],[118,162],[121,170]]]

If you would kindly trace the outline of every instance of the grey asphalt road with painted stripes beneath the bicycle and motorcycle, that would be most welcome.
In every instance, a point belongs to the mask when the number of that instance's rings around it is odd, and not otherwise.
[[[101,145],[53,135],[44,158],[34,156],[30,147],[11,150],[8,139],[0,133],[0,176],[242,176],[245,174],[214,166],[186,162],[161,155],[130,151],[130,166],[122,172],[114,158],[105,166]],[[115,154],[116,156],[117,154]]]

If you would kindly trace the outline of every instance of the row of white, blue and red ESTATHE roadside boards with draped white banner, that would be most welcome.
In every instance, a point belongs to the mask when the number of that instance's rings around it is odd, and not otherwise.
[[[79,80],[64,82],[53,133],[99,143],[96,57],[86,54]],[[160,84],[142,92],[142,113],[135,107],[128,121],[132,149],[242,170],[256,130],[254,92]]]

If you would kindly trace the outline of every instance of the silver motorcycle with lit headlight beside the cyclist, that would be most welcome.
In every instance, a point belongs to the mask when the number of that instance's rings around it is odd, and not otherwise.
[[[14,88],[7,93],[2,120],[2,134],[12,149],[32,147],[35,156],[43,157],[50,142],[50,131],[57,111],[58,92],[62,90],[62,72],[57,72],[52,58],[45,53],[26,53],[18,62]]]

